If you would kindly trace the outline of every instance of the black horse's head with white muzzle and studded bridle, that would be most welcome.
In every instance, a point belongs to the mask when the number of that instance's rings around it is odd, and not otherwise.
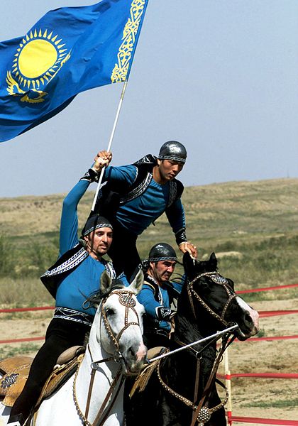
[[[217,329],[238,324],[236,337],[248,339],[258,332],[258,312],[253,310],[234,291],[234,283],[217,272],[214,253],[209,261],[194,261],[189,253],[184,254],[184,270],[187,274],[187,293],[197,321],[209,317],[208,322]],[[215,330],[216,331],[216,330]]]

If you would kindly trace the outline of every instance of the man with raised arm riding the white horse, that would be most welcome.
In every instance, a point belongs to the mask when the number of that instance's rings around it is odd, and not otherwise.
[[[36,354],[21,395],[11,409],[9,425],[22,426],[31,408],[35,406],[43,385],[50,376],[57,358],[66,349],[83,345],[85,334],[92,326],[95,310],[86,300],[99,290],[101,273],[107,271],[116,277],[111,262],[102,258],[113,239],[113,226],[108,219],[94,214],[77,236],[77,205],[93,178],[105,165],[110,155],[97,161],[96,168],[87,172],[65,197],[60,224],[60,257],[41,277],[56,299],[56,307],[46,335],[45,343]],[[127,283],[125,278],[124,282]]]

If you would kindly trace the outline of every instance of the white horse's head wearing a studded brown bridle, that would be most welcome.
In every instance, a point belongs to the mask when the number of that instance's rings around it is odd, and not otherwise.
[[[122,363],[126,375],[138,373],[147,354],[142,337],[145,311],[136,299],[142,285],[142,271],[128,287],[121,280],[112,280],[108,273],[101,275],[101,303],[96,312],[100,325],[96,340],[107,354],[113,354],[114,359]]]

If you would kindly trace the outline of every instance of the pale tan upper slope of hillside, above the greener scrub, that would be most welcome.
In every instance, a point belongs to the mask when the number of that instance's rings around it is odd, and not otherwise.
[[[251,234],[280,235],[295,231],[298,219],[298,179],[227,182],[187,187],[183,203],[192,239],[222,239],[236,236],[250,239]],[[87,192],[79,204],[79,225],[84,224],[92,205],[93,191]],[[40,224],[48,232],[59,230],[64,195],[2,198],[0,232],[29,236],[40,232]],[[281,220],[282,219],[282,220]],[[150,226],[145,239],[166,236],[165,217],[158,226]],[[158,228],[158,229],[157,229]]]

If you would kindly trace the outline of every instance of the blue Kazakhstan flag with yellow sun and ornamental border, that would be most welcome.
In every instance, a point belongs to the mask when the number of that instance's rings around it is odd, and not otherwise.
[[[147,4],[62,7],[0,42],[0,141],[50,119],[79,92],[127,80]]]

